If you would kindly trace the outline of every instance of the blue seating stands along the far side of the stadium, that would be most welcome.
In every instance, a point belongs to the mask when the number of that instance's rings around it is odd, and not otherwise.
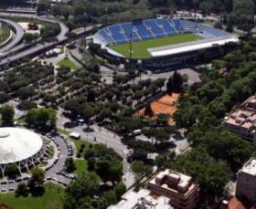
[[[192,32],[202,37],[224,37],[229,33],[212,26],[197,24],[182,19],[148,19],[133,23],[116,24],[102,28],[98,34],[106,44],[123,44],[131,39],[139,41],[148,38],[173,36],[177,33]]]

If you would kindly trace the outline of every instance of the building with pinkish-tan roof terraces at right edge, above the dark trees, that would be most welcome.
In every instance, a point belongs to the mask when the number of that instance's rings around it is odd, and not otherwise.
[[[240,108],[229,114],[223,121],[223,126],[249,141],[255,140],[256,126],[256,96],[244,101]]]

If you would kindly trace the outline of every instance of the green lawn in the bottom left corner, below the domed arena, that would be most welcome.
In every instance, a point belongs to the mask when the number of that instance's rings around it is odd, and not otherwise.
[[[59,209],[64,201],[64,189],[55,183],[45,184],[42,196],[15,197],[15,193],[0,194],[0,203],[12,209]]]

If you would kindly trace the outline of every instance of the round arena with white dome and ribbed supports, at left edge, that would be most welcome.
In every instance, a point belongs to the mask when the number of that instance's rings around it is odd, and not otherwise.
[[[0,169],[3,178],[9,164],[21,173],[47,159],[48,141],[33,131],[21,128],[0,128]]]

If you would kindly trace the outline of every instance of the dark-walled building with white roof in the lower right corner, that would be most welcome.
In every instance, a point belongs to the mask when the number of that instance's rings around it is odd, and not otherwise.
[[[256,204],[256,158],[251,158],[237,173],[236,197]]]

